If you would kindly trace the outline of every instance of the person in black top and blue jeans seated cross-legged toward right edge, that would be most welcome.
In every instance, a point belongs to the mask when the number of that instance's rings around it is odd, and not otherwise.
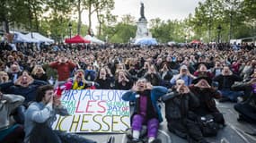
[[[218,89],[221,91],[222,98],[219,100],[219,102],[236,102],[237,97],[243,96],[243,92],[233,91],[231,88],[235,81],[242,81],[243,79],[233,74],[228,66],[225,66],[222,74],[216,76],[213,80],[218,82]]]

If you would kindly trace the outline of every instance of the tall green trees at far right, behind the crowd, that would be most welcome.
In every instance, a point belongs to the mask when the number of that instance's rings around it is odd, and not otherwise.
[[[195,34],[206,42],[216,41],[218,25],[222,27],[221,40],[229,41],[255,35],[255,12],[255,0],[206,0],[199,3],[189,21]]]

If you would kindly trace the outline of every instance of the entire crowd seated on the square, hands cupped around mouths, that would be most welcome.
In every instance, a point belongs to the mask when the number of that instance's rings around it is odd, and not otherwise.
[[[10,51],[0,46],[0,142],[95,142],[50,128],[56,114],[68,115],[61,92],[122,89],[128,90],[122,98],[135,106],[129,142],[143,141],[143,125],[147,142],[160,142],[156,136],[163,113],[158,104],[163,101],[169,131],[191,143],[206,143],[205,137],[225,127],[216,100],[234,102],[238,121],[256,121],[255,54],[255,47]],[[46,134],[39,136],[40,131]]]

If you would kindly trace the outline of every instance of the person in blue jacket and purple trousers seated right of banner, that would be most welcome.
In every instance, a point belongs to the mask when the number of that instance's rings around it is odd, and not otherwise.
[[[125,101],[133,101],[135,111],[131,116],[132,140],[130,143],[139,143],[140,130],[146,124],[148,143],[161,142],[156,139],[159,122],[163,122],[163,117],[157,100],[167,93],[167,88],[153,87],[146,79],[139,79],[137,83],[126,92],[122,99]]]

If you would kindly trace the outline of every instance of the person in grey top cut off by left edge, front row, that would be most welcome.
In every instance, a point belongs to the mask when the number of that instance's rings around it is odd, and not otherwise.
[[[24,138],[23,126],[13,121],[11,114],[18,105],[22,105],[24,97],[3,94],[0,91],[0,142],[22,143]]]

